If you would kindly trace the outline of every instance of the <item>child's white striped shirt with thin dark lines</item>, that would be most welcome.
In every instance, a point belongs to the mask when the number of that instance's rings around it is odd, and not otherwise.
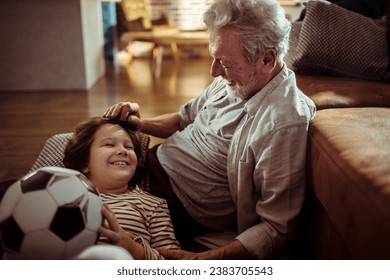
[[[158,248],[180,249],[164,199],[139,187],[125,194],[101,193],[100,196],[115,213],[122,228],[135,235],[134,240],[143,245],[145,259],[163,259]],[[109,242],[100,237],[99,243]]]

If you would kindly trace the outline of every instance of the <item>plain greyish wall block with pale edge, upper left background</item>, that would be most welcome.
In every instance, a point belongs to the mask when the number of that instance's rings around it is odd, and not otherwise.
[[[86,90],[104,74],[97,0],[1,0],[0,90]]]

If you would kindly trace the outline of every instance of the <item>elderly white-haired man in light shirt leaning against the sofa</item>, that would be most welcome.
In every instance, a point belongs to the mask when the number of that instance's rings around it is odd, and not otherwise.
[[[272,258],[287,248],[302,207],[315,106],[283,62],[291,27],[275,0],[214,0],[204,22],[215,79],[199,96],[154,118],[130,102],[104,116],[166,138],[150,155],[150,191],[167,199],[179,240],[237,233],[217,249],[165,257]]]

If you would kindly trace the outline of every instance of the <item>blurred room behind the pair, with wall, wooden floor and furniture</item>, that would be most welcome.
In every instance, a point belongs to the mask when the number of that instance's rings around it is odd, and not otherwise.
[[[291,20],[300,1],[279,1]],[[173,112],[211,81],[205,0],[0,1],[0,181],[119,101]],[[158,142],[160,139],[153,139]]]

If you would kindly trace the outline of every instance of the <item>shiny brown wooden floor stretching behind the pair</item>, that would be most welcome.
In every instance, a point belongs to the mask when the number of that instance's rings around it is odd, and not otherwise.
[[[211,82],[210,63],[208,58],[164,59],[157,79],[149,60],[138,58],[130,65],[107,66],[87,92],[0,92],[0,181],[25,175],[48,137],[71,131],[116,102],[139,103],[145,117],[177,111]]]

